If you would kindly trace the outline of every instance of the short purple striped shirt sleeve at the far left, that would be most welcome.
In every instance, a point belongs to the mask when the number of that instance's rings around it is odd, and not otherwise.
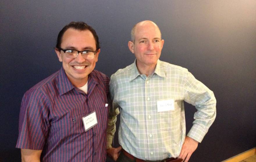
[[[49,103],[40,91],[28,91],[22,98],[19,137],[16,148],[42,150],[49,129]]]

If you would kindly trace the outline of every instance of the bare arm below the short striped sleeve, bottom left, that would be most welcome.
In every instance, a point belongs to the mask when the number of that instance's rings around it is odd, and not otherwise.
[[[22,162],[40,162],[42,150],[21,149]]]

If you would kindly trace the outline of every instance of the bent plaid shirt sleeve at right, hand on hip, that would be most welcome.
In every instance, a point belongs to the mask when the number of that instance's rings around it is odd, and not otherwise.
[[[202,142],[216,118],[216,99],[214,93],[202,82],[196,80],[191,73],[187,72],[186,76],[184,101],[194,105],[197,109],[193,126],[187,136]]]

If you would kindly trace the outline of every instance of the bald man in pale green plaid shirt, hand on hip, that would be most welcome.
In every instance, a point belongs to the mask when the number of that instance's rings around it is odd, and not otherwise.
[[[213,92],[183,67],[159,60],[164,40],[152,21],[131,30],[133,64],[111,76],[107,154],[115,161],[189,161],[216,117]],[[195,106],[186,135],[184,101]],[[119,148],[112,148],[120,109]]]

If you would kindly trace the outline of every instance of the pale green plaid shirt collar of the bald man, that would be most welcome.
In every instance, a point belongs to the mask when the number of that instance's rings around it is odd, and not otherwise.
[[[163,65],[162,62],[160,60],[157,60],[157,66],[155,68],[154,71],[155,74],[157,74],[160,77],[166,78],[166,74],[164,72],[163,69]],[[131,75],[130,75],[130,81],[134,80],[135,78],[137,78],[140,74],[140,72],[138,71],[138,68],[136,66],[136,59],[134,61],[134,63],[131,65]]]

